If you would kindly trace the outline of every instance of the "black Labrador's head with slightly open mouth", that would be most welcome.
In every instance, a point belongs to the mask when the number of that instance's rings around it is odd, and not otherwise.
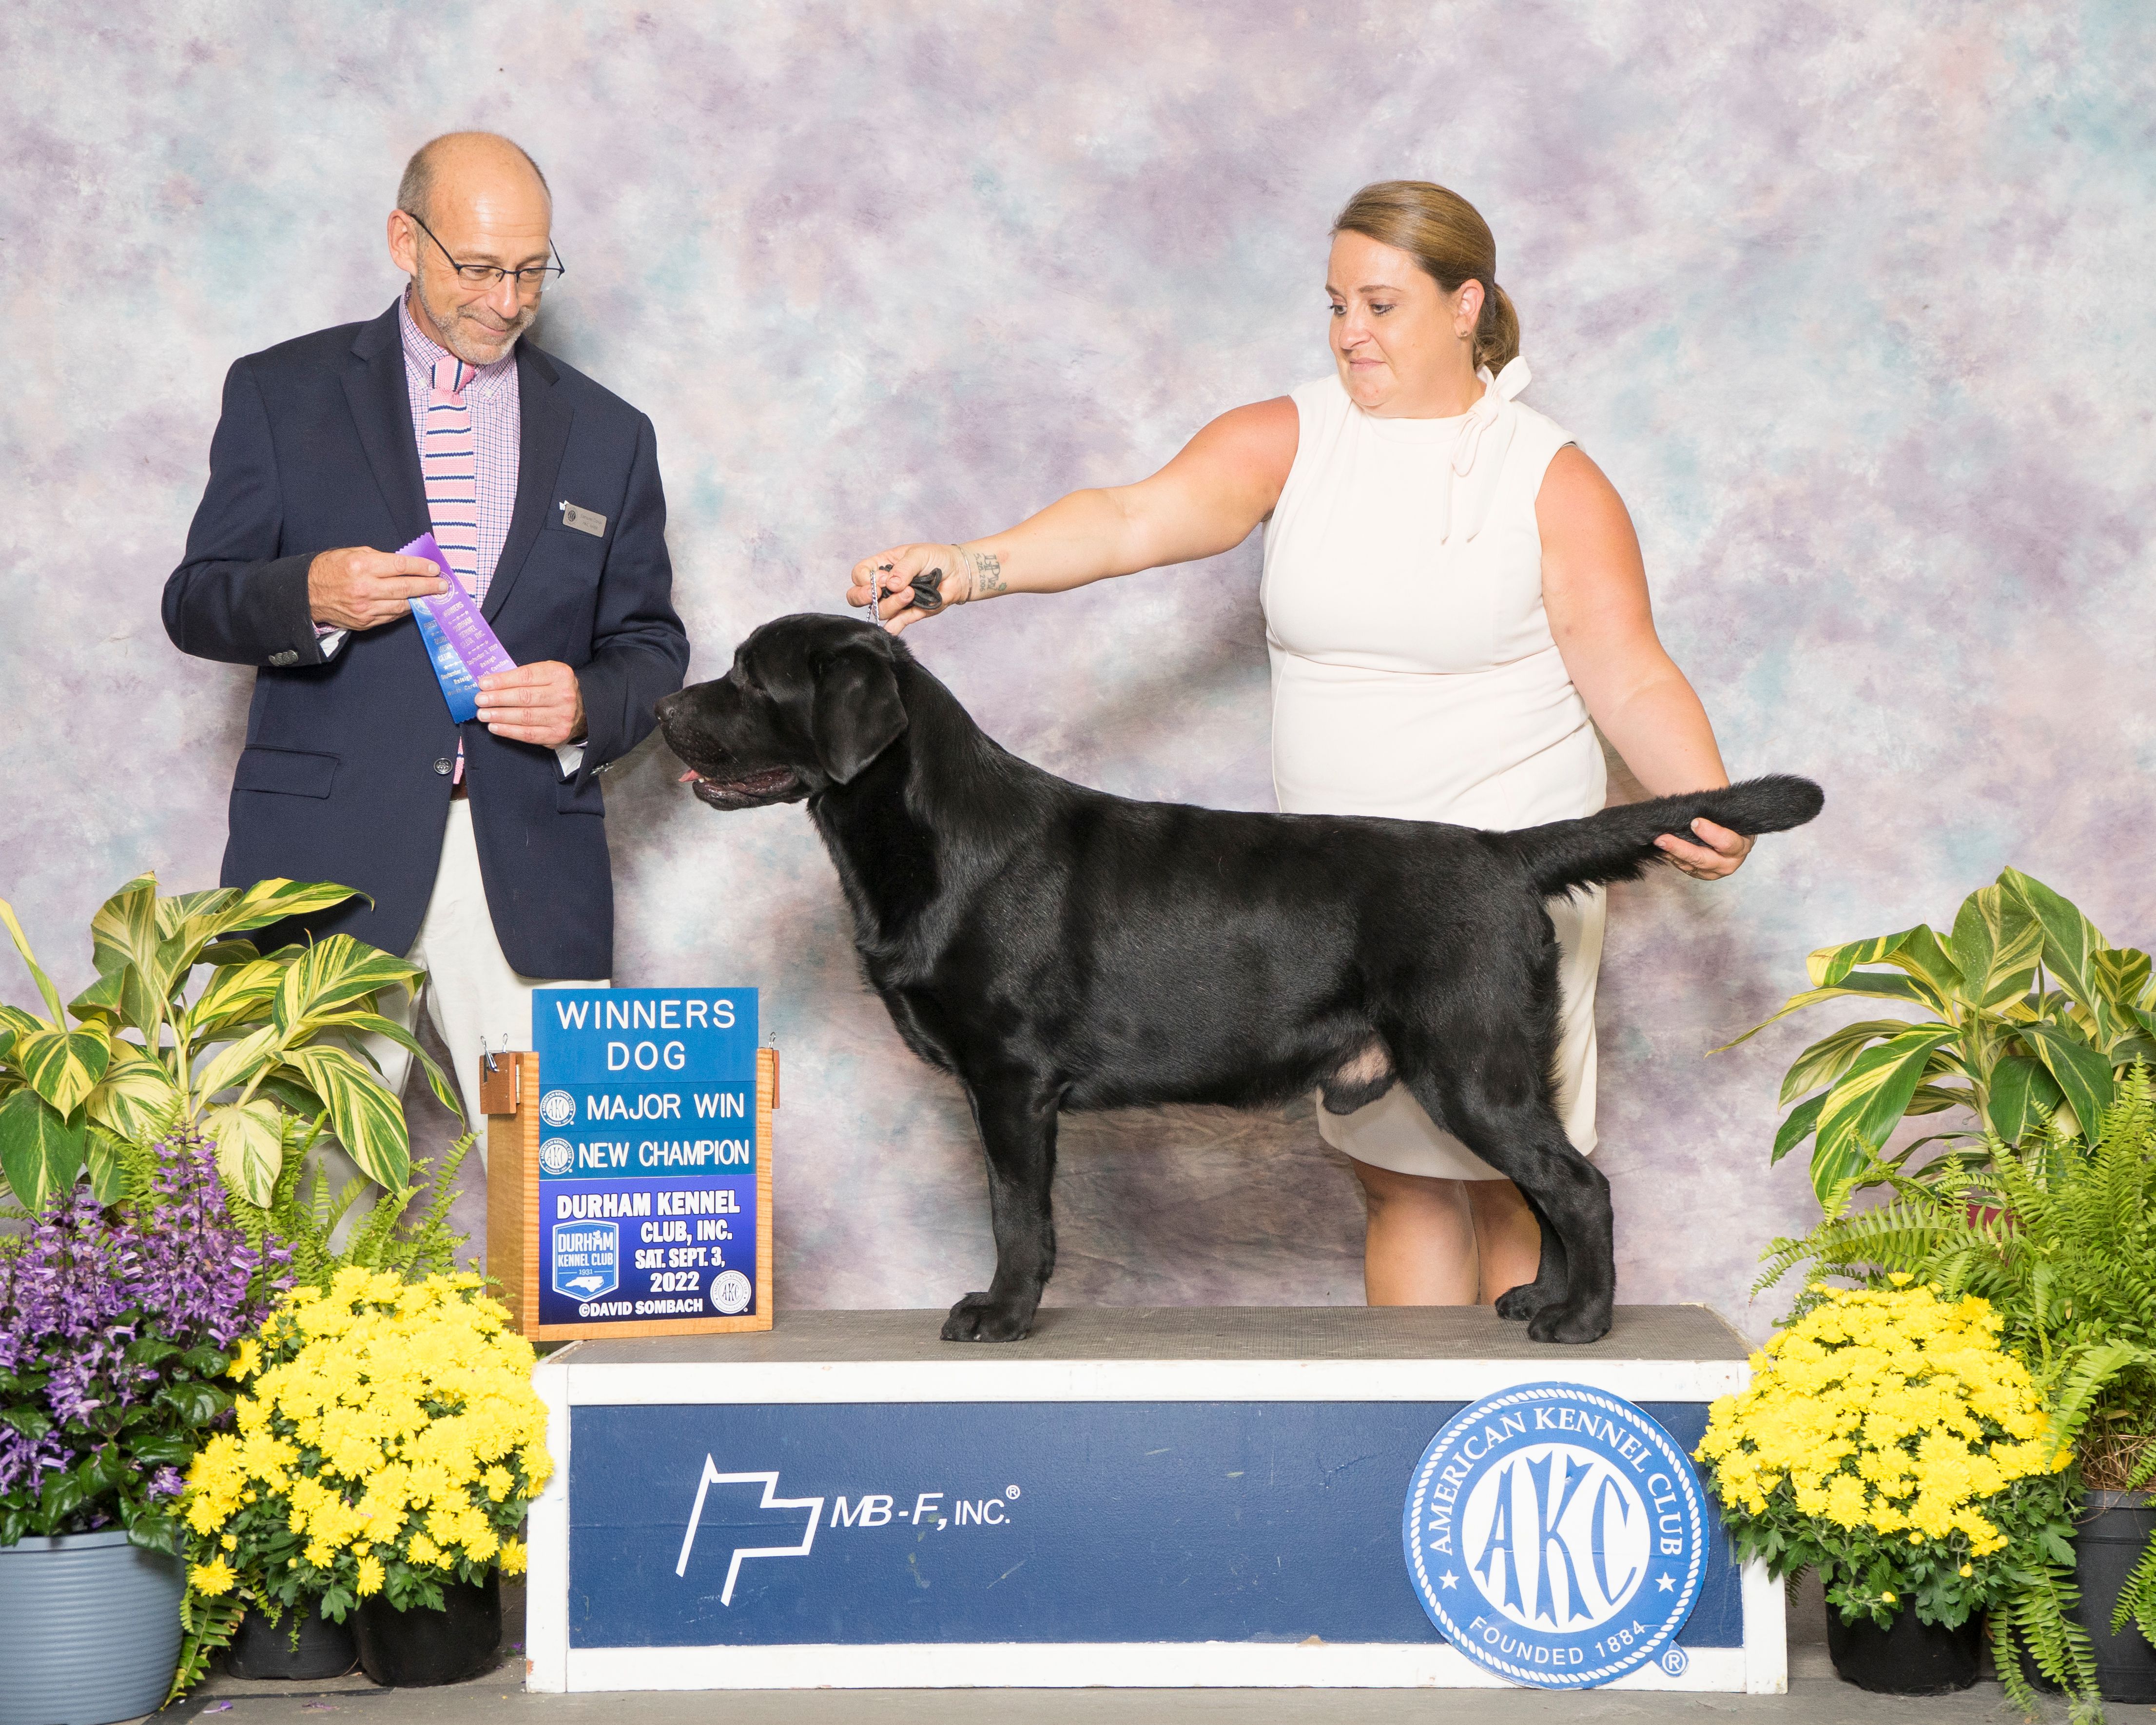
[[[849,783],[906,731],[901,658],[897,638],[871,623],[780,617],[735,649],[724,677],[653,712],[703,802],[800,802]]]

